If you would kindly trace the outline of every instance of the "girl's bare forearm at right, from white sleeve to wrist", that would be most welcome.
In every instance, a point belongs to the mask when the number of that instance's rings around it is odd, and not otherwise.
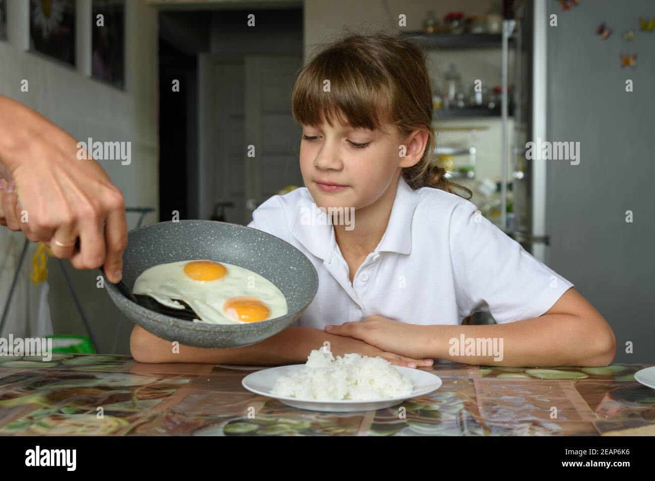
[[[426,356],[458,363],[607,366],[616,354],[614,334],[602,318],[558,313],[498,325],[432,325],[426,329]]]

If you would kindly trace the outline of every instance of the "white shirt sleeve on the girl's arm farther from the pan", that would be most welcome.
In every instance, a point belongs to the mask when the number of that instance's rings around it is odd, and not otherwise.
[[[499,324],[532,319],[573,287],[483,217],[471,202],[453,209],[449,238],[463,317],[483,311]]]

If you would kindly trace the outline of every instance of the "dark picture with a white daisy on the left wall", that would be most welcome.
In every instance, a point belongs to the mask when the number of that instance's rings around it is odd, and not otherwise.
[[[29,50],[75,66],[75,0],[29,0]]]

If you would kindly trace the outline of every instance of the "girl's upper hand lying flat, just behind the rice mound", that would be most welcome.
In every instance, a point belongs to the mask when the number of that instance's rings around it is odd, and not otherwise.
[[[346,336],[364,341],[386,352],[421,359],[425,355],[422,349],[425,332],[421,326],[387,319],[381,315],[369,315],[359,323],[327,325],[326,332],[337,336]],[[421,359],[424,366],[432,366],[434,359]]]

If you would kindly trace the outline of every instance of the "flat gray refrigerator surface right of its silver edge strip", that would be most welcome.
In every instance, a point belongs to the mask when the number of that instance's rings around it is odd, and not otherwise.
[[[548,28],[549,140],[579,141],[581,153],[577,166],[548,161],[549,264],[610,323],[616,362],[653,363],[655,33],[639,31],[639,16],[653,16],[654,4],[597,0],[563,12],[549,0],[548,7],[558,16]],[[614,30],[607,40],[595,33],[602,22]],[[626,43],[629,28],[635,41]],[[634,52],[636,68],[622,69],[620,54]]]

